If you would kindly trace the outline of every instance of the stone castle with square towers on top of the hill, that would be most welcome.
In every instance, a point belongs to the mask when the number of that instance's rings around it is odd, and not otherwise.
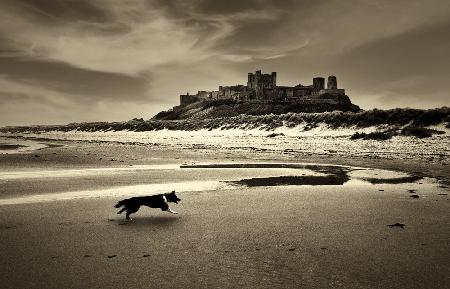
[[[336,76],[313,78],[312,85],[277,86],[277,73],[262,74],[261,70],[248,73],[247,85],[219,86],[216,91],[198,91],[197,94],[180,95],[180,106],[203,100],[233,99],[249,102],[335,102],[337,96],[345,95],[345,89],[338,89]]]

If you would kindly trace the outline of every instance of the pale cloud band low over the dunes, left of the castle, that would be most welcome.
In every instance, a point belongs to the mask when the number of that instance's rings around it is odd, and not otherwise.
[[[80,99],[82,101],[80,101]],[[150,118],[161,103],[85,100],[84,95],[67,94],[0,76],[0,123],[2,125],[65,124],[80,121],[121,121]],[[120,109],[118,109],[120,108]]]

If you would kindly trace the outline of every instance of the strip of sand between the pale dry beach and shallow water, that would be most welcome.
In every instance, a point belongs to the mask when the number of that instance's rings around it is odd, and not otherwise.
[[[24,136],[10,136],[11,139],[23,139]],[[330,164],[330,165],[347,165],[374,169],[389,169],[399,170],[412,175],[420,177],[432,177],[443,185],[450,185],[450,159],[424,161],[422,159],[392,159],[381,158],[378,156],[342,156],[328,154],[312,154],[308,152],[280,152],[278,150],[254,150],[253,148],[240,148],[231,151],[228,148],[217,149],[215,147],[177,147],[170,148],[167,146],[144,144],[144,143],[127,143],[115,141],[87,141],[87,140],[63,140],[63,139],[49,139],[39,138],[35,140],[38,143],[45,143],[45,147],[40,147],[36,150],[24,151],[18,154],[3,154],[0,157],[5,159],[5,167],[10,166],[11,163],[17,163],[19,166],[25,163],[29,167],[61,167],[61,163],[67,163],[71,167],[97,167],[100,163],[109,167],[111,165],[149,165],[161,163],[160,153],[163,153],[163,163],[179,163],[183,160],[184,163],[189,162],[214,162],[216,159],[225,159],[232,161],[248,161],[254,159],[257,161],[283,161],[283,162],[299,162],[311,164]],[[97,150],[104,146],[102,153],[97,154],[99,157],[95,159],[94,155],[90,153],[83,154],[85,150]],[[105,148],[111,148],[116,153],[108,153]],[[116,159],[114,155],[121,155],[127,150],[136,151],[134,157],[129,157],[126,160]],[[30,157],[37,153],[39,157],[46,156],[48,159],[42,162],[42,159]],[[52,157],[50,154],[53,154]],[[9,157],[8,157],[9,155]],[[36,154],[35,154],[36,155]],[[57,157],[56,157],[57,156]],[[72,157],[71,157],[72,156]],[[155,157],[157,156],[157,157]],[[152,158],[153,157],[153,158]],[[59,159],[63,158],[63,159]],[[74,158],[79,158],[74,160]],[[100,159],[101,158],[101,159]],[[159,161],[158,161],[159,159]],[[12,165],[14,167],[14,165]]]

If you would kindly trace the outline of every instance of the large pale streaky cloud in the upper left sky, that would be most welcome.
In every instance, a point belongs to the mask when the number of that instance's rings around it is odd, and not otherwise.
[[[139,11],[138,6],[124,2],[105,7],[112,21],[66,21],[52,25],[35,21],[35,17],[4,11],[2,26],[14,48],[47,61],[112,73],[138,75],[156,65],[186,57],[196,37],[186,29],[168,21],[160,11]],[[7,15],[5,15],[7,14]],[[140,21],[135,21],[136,17]],[[118,27],[120,29],[118,29]],[[105,31],[115,33],[105,33]]]

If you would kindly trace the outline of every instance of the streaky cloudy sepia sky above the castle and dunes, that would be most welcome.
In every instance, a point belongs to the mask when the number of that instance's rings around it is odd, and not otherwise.
[[[0,126],[149,119],[179,95],[336,75],[363,109],[450,106],[448,0],[2,0]]]

